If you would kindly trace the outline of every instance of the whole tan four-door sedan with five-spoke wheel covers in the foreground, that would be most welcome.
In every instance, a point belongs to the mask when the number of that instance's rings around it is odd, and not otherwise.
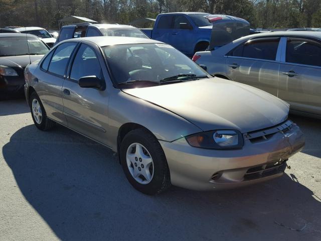
[[[150,39],[63,41],[25,78],[40,130],[59,123],[109,147],[146,194],[171,184],[215,190],[266,181],[304,146],[286,102],[213,78]]]

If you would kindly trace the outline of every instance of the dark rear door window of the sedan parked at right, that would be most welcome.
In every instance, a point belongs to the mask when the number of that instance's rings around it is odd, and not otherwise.
[[[275,60],[280,38],[249,40],[230,51],[229,56]]]

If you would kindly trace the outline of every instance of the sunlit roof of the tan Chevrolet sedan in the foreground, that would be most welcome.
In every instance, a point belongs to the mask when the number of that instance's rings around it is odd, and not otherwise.
[[[133,38],[133,37],[113,37],[113,36],[100,36],[100,37],[85,37],[85,38],[76,38],[64,40],[61,43],[66,42],[81,42],[89,41],[99,47],[110,46],[110,45],[121,45],[121,44],[160,44],[162,42],[145,39],[145,38]]]

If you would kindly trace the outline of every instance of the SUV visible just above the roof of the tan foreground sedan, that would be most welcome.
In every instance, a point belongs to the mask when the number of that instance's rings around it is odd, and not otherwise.
[[[148,38],[148,36],[139,29],[129,25],[81,23],[63,26],[56,44],[66,39],[94,36]]]

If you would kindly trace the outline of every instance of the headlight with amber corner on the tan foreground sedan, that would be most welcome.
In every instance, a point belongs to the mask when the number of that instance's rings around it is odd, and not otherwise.
[[[243,137],[239,131],[216,130],[197,133],[186,137],[192,147],[207,149],[239,149],[243,147]]]

